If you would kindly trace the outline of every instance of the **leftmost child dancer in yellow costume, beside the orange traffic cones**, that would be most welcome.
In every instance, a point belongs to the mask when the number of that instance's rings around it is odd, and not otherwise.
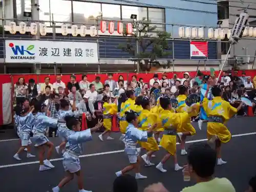
[[[110,136],[112,127],[112,116],[117,113],[117,105],[116,103],[111,103],[111,98],[107,95],[104,95],[102,100],[104,101],[103,126],[105,127],[105,131],[98,137],[101,141],[103,141],[103,135],[108,134],[106,140],[113,140],[114,138]]]

